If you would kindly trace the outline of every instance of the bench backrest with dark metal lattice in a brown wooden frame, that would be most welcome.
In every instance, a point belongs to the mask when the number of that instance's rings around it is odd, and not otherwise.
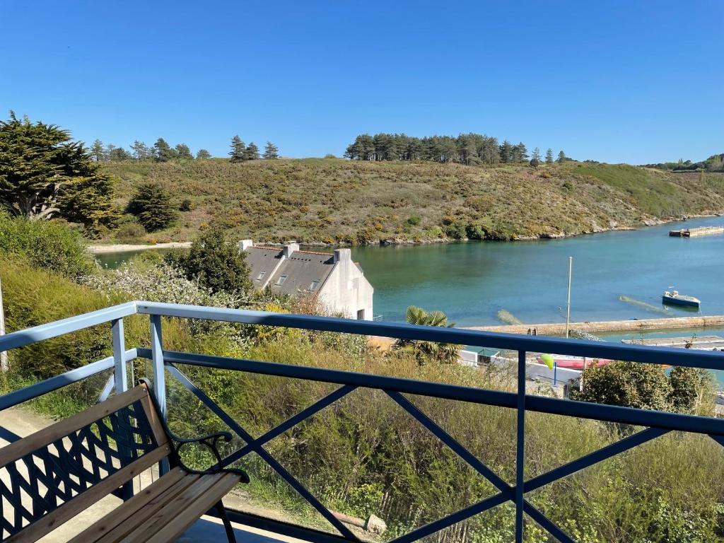
[[[169,452],[145,384],[0,448],[0,539],[35,541]]]

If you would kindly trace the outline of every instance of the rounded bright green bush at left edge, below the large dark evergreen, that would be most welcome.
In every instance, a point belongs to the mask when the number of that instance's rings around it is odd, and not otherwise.
[[[62,222],[10,219],[0,213],[0,255],[18,255],[30,264],[65,277],[80,277],[93,269],[80,234]]]

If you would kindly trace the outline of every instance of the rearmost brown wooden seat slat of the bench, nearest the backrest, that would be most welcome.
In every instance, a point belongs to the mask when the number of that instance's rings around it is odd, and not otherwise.
[[[142,489],[138,494],[135,494],[135,496],[125,502],[122,507],[114,509],[112,515],[106,515],[104,518],[99,519],[68,543],[88,543],[101,540],[101,538],[105,539],[111,536],[111,534],[121,531],[122,525],[124,525],[129,518],[133,517],[135,519],[138,515],[144,516],[145,518],[148,510],[153,507],[153,500],[156,500],[160,494],[172,492],[174,486],[186,477],[188,477],[188,473],[182,468],[172,468],[172,470],[161,477],[161,479],[148,485],[148,487]]]

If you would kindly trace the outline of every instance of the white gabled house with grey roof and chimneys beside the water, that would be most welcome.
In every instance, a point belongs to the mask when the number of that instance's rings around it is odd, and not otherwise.
[[[241,240],[254,287],[292,295],[314,295],[320,306],[349,319],[371,321],[374,289],[349,249],[334,253],[300,251],[298,243],[282,248]]]

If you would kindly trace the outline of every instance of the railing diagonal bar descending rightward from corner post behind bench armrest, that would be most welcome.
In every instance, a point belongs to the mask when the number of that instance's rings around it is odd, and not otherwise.
[[[219,407],[219,405],[216,402],[214,402],[214,400],[211,400],[211,398],[208,395],[206,395],[206,392],[203,392],[203,390],[198,388],[187,376],[182,374],[182,372],[179,369],[177,369],[175,366],[173,366],[172,364],[167,364],[167,368],[175,377],[177,377],[177,379],[180,380],[180,382],[182,382],[182,384],[184,384],[185,387],[188,388],[188,390],[193,392],[193,394],[196,397],[198,397],[198,399],[201,400],[201,402],[204,405],[206,405],[206,407],[211,409],[211,411],[216,416],[221,418],[222,421],[224,421],[224,423],[227,424],[227,426],[229,426],[230,429],[232,429],[234,432],[236,432],[238,434],[238,436],[241,437],[241,439],[243,439],[245,442],[247,442],[248,445],[251,445],[253,447],[254,452],[256,452],[261,457],[261,459],[264,460],[264,462],[269,464],[269,466],[274,471],[279,473],[279,476],[281,476],[282,479],[287,481],[287,483],[290,484],[290,487],[295,489],[300,494],[301,497],[303,497],[305,500],[307,500],[307,502],[309,502],[309,504],[313,508],[315,508],[317,511],[319,511],[319,514],[321,514],[324,518],[326,518],[327,521],[329,521],[329,523],[332,524],[332,526],[334,526],[334,528],[336,528],[338,531],[340,531],[340,534],[342,534],[343,536],[345,536],[348,539],[351,539],[352,541],[359,541],[358,537],[355,536],[355,534],[353,534],[353,532],[350,531],[350,529],[348,529],[347,526],[342,524],[342,522],[337,517],[332,515],[332,512],[329,509],[327,509],[326,507],[324,507],[324,505],[319,500],[317,500],[316,497],[313,494],[311,494],[311,492],[309,492],[306,489],[306,487],[304,487],[303,484],[301,484],[297,479],[295,479],[295,477],[292,476],[292,474],[289,473],[289,471],[287,471],[287,469],[284,466],[282,466],[279,462],[277,462],[277,460],[275,460],[274,457],[272,457],[269,454],[269,452],[267,452],[266,449],[264,449],[264,447],[261,447],[261,445],[253,445],[254,438],[252,437],[252,435],[249,434],[249,432],[247,432],[245,429],[243,429],[243,427],[240,424],[238,424],[237,421],[235,421],[234,418],[232,418],[229,415],[229,413],[227,413],[221,407]]]

